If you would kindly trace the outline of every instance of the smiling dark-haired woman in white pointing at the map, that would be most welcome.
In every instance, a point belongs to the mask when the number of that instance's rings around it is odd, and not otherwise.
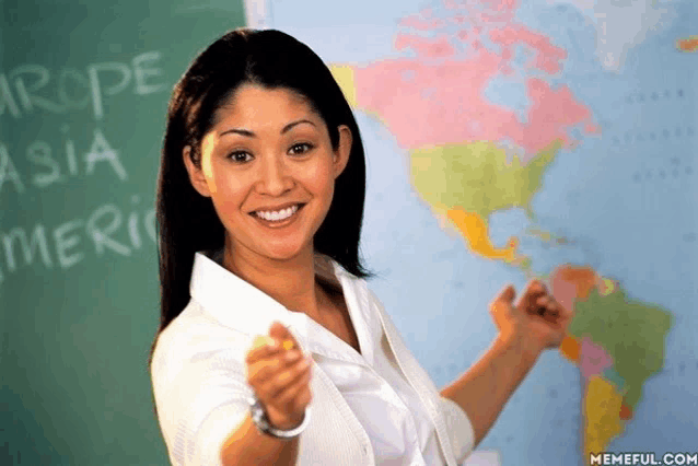
[[[365,162],[322,60],[277,31],[202,51],[170,103],[151,375],[175,465],[455,465],[569,314],[533,281],[438,392],[367,288]],[[312,410],[311,410],[312,408]]]

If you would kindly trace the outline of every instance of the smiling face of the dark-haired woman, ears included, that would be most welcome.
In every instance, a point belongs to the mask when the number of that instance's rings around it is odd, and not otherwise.
[[[341,126],[339,136],[333,151],[324,120],[292,91],[244,84],[203,137],[200,168],[185,148],[191,184],[211,198],[234,256],[312,253],[349,159],[351,131]]]

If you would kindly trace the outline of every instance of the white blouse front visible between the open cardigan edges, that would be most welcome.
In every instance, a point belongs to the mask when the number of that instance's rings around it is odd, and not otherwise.
[[[351,301],[351,300],[348,300]],[[305,314],[307,350],[327,373],[359,419],[382,466],[444,465],[434,424],[409,386],[384,338],[381,322],[356,302],[347,302],[361,354]]]

